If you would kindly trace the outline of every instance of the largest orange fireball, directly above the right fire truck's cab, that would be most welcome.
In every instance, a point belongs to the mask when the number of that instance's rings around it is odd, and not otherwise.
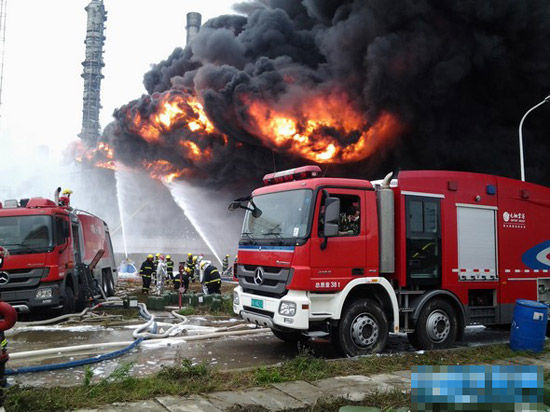
[[[250,132],[266,145],[317,163],[366,159],[402,130],[389,112],[381,113],[376,123],[369,125],[349,99],[337,93],[306,98],[291,109],[255,100],[249,103],[248,112],[256,123]]]

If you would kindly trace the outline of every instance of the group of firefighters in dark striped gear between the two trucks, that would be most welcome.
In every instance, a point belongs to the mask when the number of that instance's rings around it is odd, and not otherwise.
[[[229,271],[229,255],[223,259],[222,272]],[[189,281],[195,282],[198,278],[205,295],[221,293],[221,275],[211,261],[202,255],[187,254],[187,259],[180,262],[178,273],[174,275],[174,261],[170,255],[152,253],[147,255],[139,270],[143,286],[142,293],[149,294],[151,284],[156,287],[156,292],[161,295],[164,288],[173,287],[176,292],[187,293]]]

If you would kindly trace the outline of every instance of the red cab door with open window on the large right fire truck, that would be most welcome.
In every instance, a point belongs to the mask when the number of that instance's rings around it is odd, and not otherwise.
[[[366,220],[365,193],[360,190],[327,189],[340,199],[339,236],[327,239],[322,249],[322,194],[316,201],[311,241],[311,278],[316,289],[341,289],[353,278],[365,276]],[[317,287],[319,285],[319,287]]]

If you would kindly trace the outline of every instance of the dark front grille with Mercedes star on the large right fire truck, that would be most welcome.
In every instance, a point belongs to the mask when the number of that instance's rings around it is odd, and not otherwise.
[[[274,266],[262,266],[261,275],[256,272],[258,266],[237,265],[239,285],[245,293],[280,298],[287,294],[286,285],[292,279],[292,270]]]

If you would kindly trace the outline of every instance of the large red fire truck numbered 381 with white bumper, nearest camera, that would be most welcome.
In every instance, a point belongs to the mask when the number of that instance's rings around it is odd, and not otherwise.
[[[402,171],[380,181],[266,175],[247,209],[233,310],[280,339],[330,337],[355,356],[405,332],[448,348],[466,325],[550,303],[550,189],[509,178]]]

